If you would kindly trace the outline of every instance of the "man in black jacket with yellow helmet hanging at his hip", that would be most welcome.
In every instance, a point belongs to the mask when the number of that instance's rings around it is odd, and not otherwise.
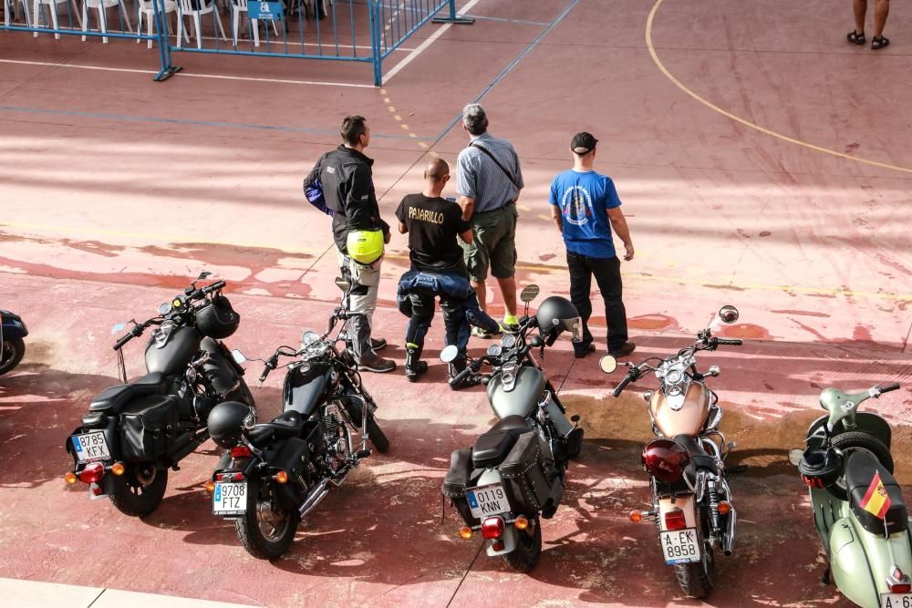
[[[387,341],[370,337],[383,243],[389,242],[389,224],[380,218],[374,191],[371,171],[374,160],[364,154],[370,141],[370,128],[364,117],[348,116],[342,121],[341,134],[342,145],[316,161],[304,180],[304,189],[308,200],[317,206],[315,199],[322,191],[322,203],[333,216],[339,268],[352,284],[350,309],[364,313],[348,321],[348,337],[358,369],[391,372],[396,363],[376,353]]]

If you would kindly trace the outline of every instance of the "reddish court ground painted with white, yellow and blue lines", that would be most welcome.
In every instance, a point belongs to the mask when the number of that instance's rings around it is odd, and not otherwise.
[[[585,129],[637,247],[622,266],[637,356],[686,345],[721,304],[741,310],[726,335],[746,344],[703,359],[722,369],[712,386],[732,458],[751,465],[731,481],[739,539],[707,603],[845,605],[820,582],[785,450],[824,386],[897,380],[903,389],[872,407],[912,422],[912,17],[896,4],[893,45],[873,52],[845,42],[848,2],[473,0],[465,12],[473,26],[409,39],[382,88],[364,66],[190,54],[154,83],[145,45],[0,32],[0,305],[31,331],[24,364],[0,379],[0,577],[270,606],[697,604],[681,598],[654,531],[627,520],[648,499],[637,391],[606,397],[620,374],[573,359],[565,342],[544,366],[587,441],[530,575],[460,541],[449,510],[440,525],[449,453],[492,413],[480,390],[441,384],[439,363],[419,385],[368,376],[389,455],[366,461],[274,563],[212,518],[211,443],[172,473],[147,520],[64,487],[63,442],[115,382],[111,325],[152,314],[203,268],[228,281],[243,315],[233,347],[262,356],[323,325],[337,268],[329,220],[303,201],[301,179],[337,144],[342,116],[370,121],[389,220],[420,190],[430,154],[455,161],[467,142],[456,119],[480,100],[523,162],[520,283],[568,293],[546,193]],[[378,311],[399,365],[405,318],[392,304],[407,253],[394,236]],[[430,357],[441,341],[438,321]],[[139,373],[139,349],[128,361]],[[278,381],[254,391],[267,414]],[[909,430],[896,434],[897,475],[912,483]]]

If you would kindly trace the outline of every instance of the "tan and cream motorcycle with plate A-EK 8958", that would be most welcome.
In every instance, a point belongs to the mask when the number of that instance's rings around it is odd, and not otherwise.
[[[738,310],[723,306],[719,316],[731,324],[738,320]],[[725,443],[719,430],[719,397],[705,382],[719,376],[719,367],[710,366],[704,373],[697,369],[697,353],[720,345],[741,345],[741,340],[714,337],[704,329],[677,355],[650,357],[636,366],[627,363],[630,370],[613,392],[620,396],[629,383],[649,372],[658,378],[658,389],[643,394],[658,437],[643,448],[641,457],[649,474],[652,509],[634,510],[630,520],[655,521],[665,563],[674,566],[684,593],[697,598],[715,586],[714,550],[731,555],[738,520],[724,464],[734,444]],[[610,374],[617,361],[604,356],[600,366]]]

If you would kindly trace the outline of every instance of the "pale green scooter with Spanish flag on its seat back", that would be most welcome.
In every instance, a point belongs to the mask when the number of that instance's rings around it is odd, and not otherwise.
[[[890,426],[858,412],[870,397],[897,383],[846,394],[826,388],[820,405],[829,414],[807,431],[806,448],[789,452],[810,488],[814,524],[830,575],[845,597],[865,608],[912,608],[912,536],[902,489],[893,479]]]

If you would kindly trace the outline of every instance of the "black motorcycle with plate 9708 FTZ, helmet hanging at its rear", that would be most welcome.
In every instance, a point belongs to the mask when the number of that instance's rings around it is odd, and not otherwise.
[[[279,357],[295,358],[285,365],[283,413],[256,424],[251,408],[226,402],[209,415],[212,440],[226,449],[206,486],[212,512],[234,520],[238,539],[254,557],[272,560],[288,551],[298,523],[370,455],[368,438],[380,452],[389,449],[354,356],[336,346],[345,341],[344,332],[329,337],[340,321],[364,314],[348,310],[350,284],[336,283],[346,296],[326,333],[306,331],[300,349],[280,346],[264,361],[261,384]],[[238,351],[233,355],[239,363],[246,360]],[[352,430],[360,435],[360,448]]]

